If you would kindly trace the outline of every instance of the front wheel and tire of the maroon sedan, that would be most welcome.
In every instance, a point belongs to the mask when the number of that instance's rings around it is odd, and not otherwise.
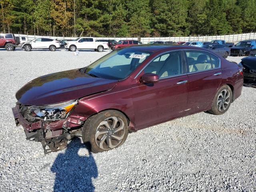
[[[113,122],[116,122],[115,128],[112,127]],[[93,153],[117,148],[125,142],[127,136],[126,116],[116,110],[106,110],[91,116],[82,127],[82,140]]]

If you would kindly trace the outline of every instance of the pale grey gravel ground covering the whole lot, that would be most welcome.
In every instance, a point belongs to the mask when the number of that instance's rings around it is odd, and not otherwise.
[[[256,191],[256,89],[244,87],[221,116],[194,114],[128,135],[89,154],[80,138],[44,155],[25,140],[11,108],[16,91],[44,74],[80,68],[102,53],[0,50],[0,191]],[[240,62],[241,57],[228,60]]]

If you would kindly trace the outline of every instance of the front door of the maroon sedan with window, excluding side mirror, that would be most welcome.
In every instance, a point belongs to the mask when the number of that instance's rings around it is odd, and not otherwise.
[[[145,73],[158,74],[159,82],[143,84]],[[153,59],[132,83],[133,106],[138,129],[183,116],[187,108],[188,76],[181,51],[166,52]]]

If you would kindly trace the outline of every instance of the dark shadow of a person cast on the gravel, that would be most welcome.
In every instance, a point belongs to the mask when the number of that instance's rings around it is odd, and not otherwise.
[[[94,192],[92,178],[98,177],[98,169],[92,154],[88,154],[79,138],[68,144],[64,154],[58,154],[51,171],[56,173],[54,192]]]

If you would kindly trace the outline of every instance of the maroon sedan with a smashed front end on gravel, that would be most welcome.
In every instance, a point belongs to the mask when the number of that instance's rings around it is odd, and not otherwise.
[[[42,142],[45,153],[75,136],[103,152],[122,145],[128,132],[203,111],[224,114],[242,85],[238,64],[209,50],[133,46],[32,80],[12,110],[27,140]]]

